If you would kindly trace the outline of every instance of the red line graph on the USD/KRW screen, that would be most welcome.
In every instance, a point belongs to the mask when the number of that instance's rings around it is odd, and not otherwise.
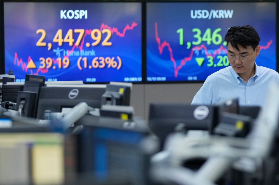
[[[166,41],[161,43],[161,39],[160,39],[160,37],[158,37],[157,22],[155,22],[155,37],[156,37],[156,41],[158,43],[158,50],[159,50],[160,55],[162,55],[164,47],[167,47],[168,51],[170,52],[170,61],[172,61],[173,66],[174,66],[175,77],[177,77],[179,69],[181,69],[188,61],[192,60],[194,51],[196,51],[196,50],[199,51],[201,49],[204,49],[206,57],[212,56],[213,58],[215,58],[215,55],[220,55],[222,51],[225,51],[225,52],[227,51],[227,49],[224,46],[220,46],[219,48],[217,48],[215,50],[215,52],[213,54],[208,54],[206,46],[204,46],[204,45],[195,46],[192,48],[190,55],[188,57],[184,57],[184,59],[181,59],[180,65],[177,66],[176,61],[173,57],[173,52],[172,52],[170,43],[168,43]],[[268,49],[271,44],[272,44],[272,40],[270,40],[266,46],[260,46],[260,50]]]

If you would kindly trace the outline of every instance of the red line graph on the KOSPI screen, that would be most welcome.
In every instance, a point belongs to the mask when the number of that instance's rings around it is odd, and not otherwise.
[[[115,34],[116,34],[117,36],[119,36],[119,37],[124,37],[127,30],[132,30],[132,29],[134,29],[134,27],[136,27],[137,25],[138,25],[138,23],[135,23],[135,22],[133,22],[133,23],[131,24],[131,26],[129,26],[129,25],[127,24],[127,25],[125,26],[125,28],[123,29],[123,31],[120,32],[120,31],[118,31],[117,28],[114,28],[114,27],[111,28],[110,26],[108,26],[108,25],[102,23],[101,26],[100,26],[100,31],[102,31],[102,30],[104,30],[104,29],[109,29],[109,30],[111,31],[112,34],[115,33]],[[72,52],[74,51],[75,48],[78,48],[80,51],[82,51],[82,48],[83,48],[83,45],[84,45],[85,37],[86,37],[87,35],[90,35],[91,32],[92,32],[91,29],[86,29],[86,30],[85,30],[85,34],[83,35],[82,41],[80,42],[80,45],[79,45],[79,46],[76,46],[76,45],[74,44],[74,46],[72,47],[72,49],[68,52],[68,55],[65,55],[64,58],[69,58],[69,54],[72,53]],[[31,56],[28,57],[27,65],[29,64],[30,60],[31,60]],[[56,59],[56,60],[55,60],[55,59],[52,59],[52,61],[53,61],[54,64],[57,64],[57,63],[59,62],[58,59]],[[27,65],[23,62],[23,60],[22,60],[21,58],[20,58],[20,59],[18,58],[16,52],[15,52],[14,64],[17,65],[17,66],[20,66],[20,65],[21,65],[22,71],[27,72],[27,70],[28,70]],[[34,75],[38,75],[38,73],[44,74],[44,73],[47,73],[47,72],[48,72],[48,69],[46,69],[46,68],[45,68],[45,69],[39,68],[39,69],[37,69],[37,71],[34,73]],[[32,70],[32,69],[30,69],[30,74],[33,74],[33,70]]]

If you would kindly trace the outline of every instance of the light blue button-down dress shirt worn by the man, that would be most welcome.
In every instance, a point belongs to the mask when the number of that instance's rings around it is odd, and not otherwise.
[[[279,74],[269,68],[257,66],[255,75],[246,84],[231,66],[207,77],[191,104],[213,105],[238,98],[241,106],[263,106],[270,83],[279,84]]]

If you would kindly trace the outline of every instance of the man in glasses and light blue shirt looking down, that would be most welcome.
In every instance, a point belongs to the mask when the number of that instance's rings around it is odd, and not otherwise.
[[[257,31],[249,25],[233,26],[224,40],[230,66],[208,76],[192,104],[212,105],[238,98],[241,106],[263,106],[269,84],[279,84],[279,74],[255,63],[260,52]]]

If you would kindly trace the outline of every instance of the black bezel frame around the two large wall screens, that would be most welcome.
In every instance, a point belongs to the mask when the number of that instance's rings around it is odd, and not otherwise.
[[[21,0],[0,0],[1,1],[1,9],[0,9],[0,15],[1,15],[1,19],[0,19],[0,62],[1,62],[1,69],[0,72],[1,74],[5,73],[5,35],[4,35],[4,2],[23,2]],[[34,0],[34,1],[26,1],[26,2],[42,2],[40,0]],[[43,2],[137,2],[137,3],[141,3],[141,19],[142,19],[142,72],[141,72],[141,76],[142,76],[142,81],[139,82],[131,82],[133,84],[188,84],[188,83],[204,83],[205,80],[201,80],[201,81],[147,81],[147,37],[146,37],[146,33],[147,33],[147,22],[146,22],[146,17],[147,17],[147,12],[146,12],[146,5],[148,2],[158,2],[158,3],[176,3],[176,2],[197,2],[197,3],[202,3],[202,2],[209,2],[206,0],[197,0],[197,1],[193,1],[193,0],[119,0],[119,1],[113,1],[113,0],[67,0],[67,1],[63,1],[63,0],[45,0]],[[278,11],[278,1],[277,0],[263,0],[263,1],[259,1],[259,0],[245,0],[245,1],[241,1],[241,0],[212,0],[210,2],[222,2],[222,3],[226,3],[226,2],[274,2],[276,4],[276,30],[278,29],[278,19],[277,17],[279,16],[279,11]],[[276,45],[279,46],[279,39],[278,39],[278,35],[279,33],[276,32]],[[279,72],[279,52],[278,52],[278,47],[276,47],[276,71]],[[85,84],[106,84],[108,82],[84,82]]]

